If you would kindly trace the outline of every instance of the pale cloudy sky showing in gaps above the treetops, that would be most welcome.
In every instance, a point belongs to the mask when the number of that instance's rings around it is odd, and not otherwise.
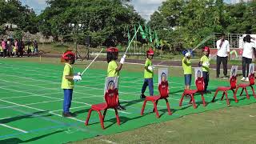
[[[42,10],[46,8],[46,0],[21,0],[23,5],[28,5],[34,9],[36,14],[40,14]],[[147,21],[150,20],[150,15],[158,10],[158,6],[161,6],[162,2],[166,0],[132,0],[131,4],[134,9],[142,15]],[[230,2],[230,0],[224,0],[224,2]]]

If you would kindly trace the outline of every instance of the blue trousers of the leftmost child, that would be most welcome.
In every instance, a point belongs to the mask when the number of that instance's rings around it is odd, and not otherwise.
[[[63,113],[66,114],[70,112],[73,89],[63,89],[63,90],[64,90]]]

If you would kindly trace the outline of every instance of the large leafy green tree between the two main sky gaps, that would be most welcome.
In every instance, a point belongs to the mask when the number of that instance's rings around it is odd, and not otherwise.
[[[39,16],[40,31],[46,36],[68,38],[72,33],[68,23],[81,22],[85,27],[78,33],[92,36],[93,46],[126,43],[127,27],[133,28],[135,23],[143,22],[133,6],[126,2],[129,1],[48,0],[49,7]]]

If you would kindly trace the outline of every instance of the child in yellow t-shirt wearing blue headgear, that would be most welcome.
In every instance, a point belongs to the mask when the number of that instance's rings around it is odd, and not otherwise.
[[[184,58],[182,59],[182,68],[185,78],[185,90],[190,90],[192,77],[192,66],[190,61],[191,54],[188,50],[183,50],[182,54],[184,55]]]

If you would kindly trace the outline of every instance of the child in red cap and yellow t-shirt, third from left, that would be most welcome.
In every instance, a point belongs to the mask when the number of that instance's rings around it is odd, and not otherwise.
[[[144,83],[142,86],[142,94],[141,98],[146,98],[144,95],[146,91],[146,86],[149,86],[150,89],[150,96],[154,95],[154,83],[153,83],[153,76],[154,76],[154,70],[151,60],[154,57],[154,50],[150,48],[150,50],[146,51],[146,62],[144,65]]]

